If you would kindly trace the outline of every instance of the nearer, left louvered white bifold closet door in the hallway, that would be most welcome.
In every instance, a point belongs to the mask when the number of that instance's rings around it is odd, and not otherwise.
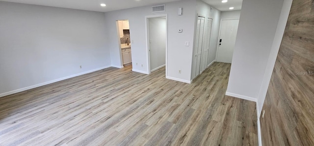
[[[194,59],[193,59],[193,71],[192,71],[193,79],[200,74],[204,26],[205,26],[205,17],[199,16],[197,18],[196,34],[195,34],[195,47],[194,47]]]

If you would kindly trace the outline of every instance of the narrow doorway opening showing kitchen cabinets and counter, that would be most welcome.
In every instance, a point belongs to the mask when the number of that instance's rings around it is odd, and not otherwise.
[[[119,20],[116,22],[118,32],[119,51],[121,52],[121,65],[123,67],[132,65],[131,38],[129,20]]]

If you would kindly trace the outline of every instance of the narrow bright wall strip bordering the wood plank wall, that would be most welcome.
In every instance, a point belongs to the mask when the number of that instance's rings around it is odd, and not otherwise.
[[[291,5],[292,5],[292,0],[284,0],[284,4],[280,13],[279,22],[277,25],[275,38],[271,46],[268,63],[265,69],[261,89],[258,96],[258,107],[257,107],[258,112],[259,112],[258,117],[260,117],[262,113],[262,107],[264,104],[264,100],[265,100],[266,93],[268,90],[268,85],[269,85],[269,82],[270,82],[270,79],[274,70],[275,63],[276,63],[279,47],[281,45],[283,35],[285,32]]]

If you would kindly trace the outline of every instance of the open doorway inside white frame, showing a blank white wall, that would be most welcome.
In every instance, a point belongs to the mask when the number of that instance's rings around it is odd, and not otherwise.
[[[167,63],[167,15],[146,16],[146,31],[150,74]]]

